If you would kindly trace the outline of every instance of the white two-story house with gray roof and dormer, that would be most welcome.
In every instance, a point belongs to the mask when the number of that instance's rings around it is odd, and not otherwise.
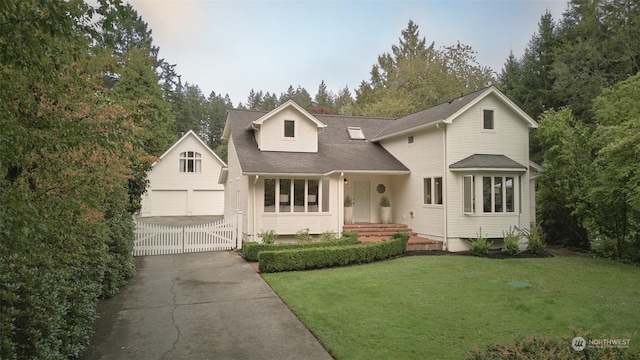
[[[538,124],[495,87],[397,118],[312,115],[289,101],[271,112],[230,110],[222,169],[225,213],[243,232],[341,232],[344,199],[354,223],[394,223],[466,250],[480,234],[501,238],[535,221],[529,130]]]

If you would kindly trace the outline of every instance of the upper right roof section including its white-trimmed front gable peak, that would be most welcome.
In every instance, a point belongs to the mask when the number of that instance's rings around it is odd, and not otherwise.
[[[529,115],[509,100],[509,98],[500,92],[495,86],[489,86],[428,109],[418,111],[417,113],[397,118],[393,123],[377,134],[373,141],[380,141],[395,136],[405,135],[410,132],[435,126],[439,123],[451,124],[458,116],[490,94],[496,95],[500,101],[525,121],[530,128],[538,127],[538,124]]]

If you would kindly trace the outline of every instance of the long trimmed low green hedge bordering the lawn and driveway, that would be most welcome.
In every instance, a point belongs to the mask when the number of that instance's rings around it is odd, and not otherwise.
[[[406,248],[407,237],[396,236],[370,244],[262,251],[258,260],[260,271],[269,273],[364,264],[401,255]]]

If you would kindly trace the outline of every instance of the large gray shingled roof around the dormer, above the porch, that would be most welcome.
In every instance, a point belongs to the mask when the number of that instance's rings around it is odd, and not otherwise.
[[[227,121],[245,174],[327,174],[332,171],[408,172],[409,169],[380,144],[350,140],[348,126],[360,126],[371,139],[392,119],[314,115],[327,127],[318,133],[317,153],[260,151],[251,122],[264,111],[229,110]]]

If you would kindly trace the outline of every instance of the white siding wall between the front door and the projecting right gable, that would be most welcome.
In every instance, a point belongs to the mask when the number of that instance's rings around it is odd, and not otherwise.
[[[408,136],[414,137],[413,144],[408,144]],[[444,205],[423,204],[423,179],[444,177],[443,130],[433,127],[383,141],[382,145],[411,170],[409,175],[392,177],[394,222],[407,224],[419,235],[442,238]]]

